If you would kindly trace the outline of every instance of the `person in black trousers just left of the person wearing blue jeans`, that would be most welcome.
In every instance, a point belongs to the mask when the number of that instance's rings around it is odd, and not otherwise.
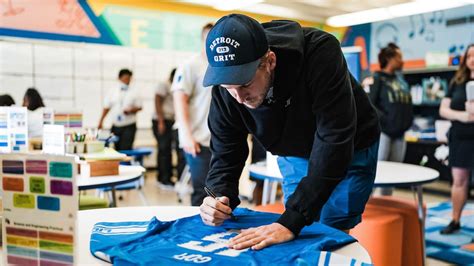
[[[171,151],[174,146],[178,157],[177,173],[178,178],[184,168],[183,152],[179,148],[178,132],[173,130],[174,108],[173,95],[171,94],[171,83],[173,82],[176,68],[171,70],[167,81],[163,81],[155,90],[155,113],[153,114],[153,135],[158,142],[157,156],[157,181],[163,188],[174,186],[171,180],[173,176],[173,164],[171,162]]]

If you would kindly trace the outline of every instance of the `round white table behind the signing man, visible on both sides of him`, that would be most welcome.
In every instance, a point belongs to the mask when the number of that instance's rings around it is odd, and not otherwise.
[[[276,186],[283,181],[280,171],[267,169],[265,163],[254,163],[249,167],[250,176],[264,180],[262,204],[275,202]],[[428,167],[379,161],[374,187],[413,187],[417,195],[418,218],[420,220],[423,253],[425,254],[425,217],[423,213],[423,184],[435,181],[439,172]]]

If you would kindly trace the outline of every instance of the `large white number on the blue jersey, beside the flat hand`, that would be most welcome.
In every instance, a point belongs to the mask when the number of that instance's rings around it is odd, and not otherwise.
[[[235,233],[237,232],[234,230],[230,230],[225,233],[218,233],[218,234],[205,236],[204,238],[202,238],[202,240],[214,242],[212,244],[205,245],[205,246],[202,245],[201,241],[189,241],[187,243],[178,244],[178,246],[182,248],[200,251],[200,252],[213,252],[213,251],[225,248],[225,250],[222,250],[216,253],[216,255],[227,256],[227,257],[237,257],[240,255],[240,253],[247,251],[248,248],[242,249],[242,250],[227,248],[227,243],[229,242],[229,240],[225,239],[224,237],[230,236]]]

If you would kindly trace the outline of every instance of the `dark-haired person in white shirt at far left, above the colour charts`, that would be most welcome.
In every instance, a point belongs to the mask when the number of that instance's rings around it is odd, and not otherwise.
[[[43,136],[43,98],[35,88],[29,88],[23,97],[23,106],[28,109],[28,137]]]

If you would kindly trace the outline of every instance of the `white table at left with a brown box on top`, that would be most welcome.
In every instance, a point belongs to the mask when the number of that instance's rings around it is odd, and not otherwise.
[[[78,176],[77,187],[79,190],[97,189],[110,187],[112,191],[112,206],[117,206],[115,187],[139,180],[145,168],[140,165],[119,165],[119,174],[111,176]]]

